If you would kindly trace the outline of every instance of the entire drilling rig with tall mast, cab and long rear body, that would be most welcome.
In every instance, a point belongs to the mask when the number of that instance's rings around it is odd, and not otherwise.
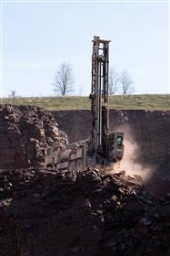
[[[50,155],[45,155],[45,165],[55,164],[57,169],[111,165],[124,155],[124,133],[109,133],[110,40],[94,37],[92,42],[91,135],[87,140],[70,144],[64,152],[48,148]]]

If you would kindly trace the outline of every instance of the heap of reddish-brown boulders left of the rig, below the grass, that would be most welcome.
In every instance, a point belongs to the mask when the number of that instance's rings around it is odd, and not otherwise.
[[[0,168],[44,166],[45,147],[66,147],[52,113],[33,106],[0,105]]]

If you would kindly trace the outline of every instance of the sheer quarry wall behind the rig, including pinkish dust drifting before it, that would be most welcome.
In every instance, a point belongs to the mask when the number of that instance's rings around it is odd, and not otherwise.
[[[58,111],[54,115],[70,142],[89,137],[90,111]],[[133,168],[142,171],[149,177],[149,185],[151,180],[152,183],[156,180],[156,186],[169,186],[170,112],[110,110],[109,123],[111,132],[120,130],[125,133],[125,168],[129,166],[131,171]]]

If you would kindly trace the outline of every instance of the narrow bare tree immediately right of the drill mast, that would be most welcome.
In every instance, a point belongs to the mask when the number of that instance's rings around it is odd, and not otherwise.
[[[109,94],[115,94],[118,91],[118,84],[119,84],[119,74],[115,68],[110,69],[110,76],[109,76]]]

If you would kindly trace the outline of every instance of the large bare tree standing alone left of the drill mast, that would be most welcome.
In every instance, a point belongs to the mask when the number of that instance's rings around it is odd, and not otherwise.
[[[61,63],[55,73],[54,91],[65,96],[73,91],[75,83],[73,69],[68,63]]]

